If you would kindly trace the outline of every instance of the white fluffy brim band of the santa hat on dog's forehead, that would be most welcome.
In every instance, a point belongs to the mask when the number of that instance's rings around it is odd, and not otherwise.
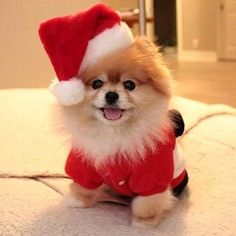
[[[124,22],[104,30],[88,42],[79,73],[87,66],[95,64],[103,56],[119,49],[128,48],[133,42],[132,32]]]

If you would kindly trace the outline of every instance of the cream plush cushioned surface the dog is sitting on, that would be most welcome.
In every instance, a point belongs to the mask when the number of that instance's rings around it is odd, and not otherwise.
[[[0,90],[0,235],[235,235],[236,110],[176,97],[186,122],[188,190],[156,229],[130,226],[127,206],[66,208],[68,136],[43,89]]]

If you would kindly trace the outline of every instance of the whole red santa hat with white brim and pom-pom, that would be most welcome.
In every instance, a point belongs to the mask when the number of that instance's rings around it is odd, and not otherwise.
[[[57,75],[51,91],[65,106],[83,100],[85,87],[79,75],[84,69],[133,43],[119,14],[103,4],[43,22],[39,35]]]

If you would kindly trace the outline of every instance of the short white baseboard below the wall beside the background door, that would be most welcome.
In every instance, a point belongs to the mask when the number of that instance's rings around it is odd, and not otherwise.
[[[180,61],[217,61],[217,53],[215,51],[194,51],[183,50],[178,52]]]

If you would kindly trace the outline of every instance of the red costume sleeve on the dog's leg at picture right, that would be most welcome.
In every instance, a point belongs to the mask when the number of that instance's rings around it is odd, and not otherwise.
[[[173,149],[175,136],[167,133],[165,143],[157,143],[156,152],[149,152],[145,160],[140,161],[133,169],[129,186],[133,192],[141,196],[148,196],[165,191],[174,172]]]

